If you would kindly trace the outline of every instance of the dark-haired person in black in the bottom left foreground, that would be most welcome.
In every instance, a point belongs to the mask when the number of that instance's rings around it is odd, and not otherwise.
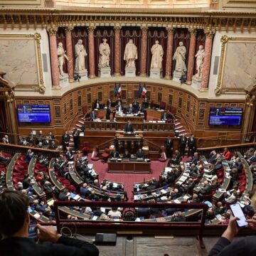
[[[63,237],[53,226],[36,225],[40,243],[28,238],[30,216],[28,196],[20,191],[4,191],[0,195],[1,256],[97,256],[99,250],[90,242]],[[11,214],[10,214],[11,213]]]

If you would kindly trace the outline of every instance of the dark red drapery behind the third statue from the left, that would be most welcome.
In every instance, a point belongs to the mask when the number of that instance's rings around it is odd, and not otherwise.
[[[110,68],[111,75],[114,74],[114,30],[112,27],[97,27],[94,31],[94,44],[95,44],[95,75],[98,75],[98,63],[99,63],[99,46],[102,43],[103,38],[107,38],[107,43],[110,45]]]

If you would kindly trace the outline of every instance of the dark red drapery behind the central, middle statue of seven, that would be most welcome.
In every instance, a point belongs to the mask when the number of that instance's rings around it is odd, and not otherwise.
[[[140,58],[141,58],[141,48],[142,48],[142,31],[140,28],[124,28],[120,31],[120,50],[121,50],[121,75],[125,74],[125,65],[126,62],[124,60],[124,48],[128,43],[129,39],[133,40],[133,43],[138,48],[138,59],[135,60],[136,65],[136,75],[140,73]]]

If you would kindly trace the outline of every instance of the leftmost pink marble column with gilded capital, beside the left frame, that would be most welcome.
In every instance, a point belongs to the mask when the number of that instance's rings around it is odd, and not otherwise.
[[[58,28],[47,28],[50,37],[50,68],[53,80],[53,89],[60,88],[60,74],[58,69],[58,53],[56,33]]]

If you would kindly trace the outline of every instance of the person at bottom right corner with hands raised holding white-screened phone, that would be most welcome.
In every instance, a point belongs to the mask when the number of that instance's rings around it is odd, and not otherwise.
[[[256,235],[238,238],[233,242],[239,230],[237,220],[239,218],[233,215],[230,217],[228,228],[210,250],[208,256],[256,255]],[[246,221],[249,228],[256,230],[256,213],[250,220]]]

